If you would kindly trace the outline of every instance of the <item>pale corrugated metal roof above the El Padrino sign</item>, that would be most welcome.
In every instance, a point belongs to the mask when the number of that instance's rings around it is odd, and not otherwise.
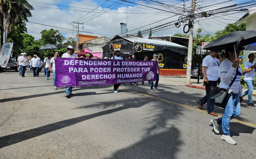
[[[123,37],[123,36],[120,36]],[[153,40],[153,39],[145,39],[145,38],[141,38],[141,37],[123,37],[126,40],[131,41],[132,43],[149,43],[149,44],[157,44],[157,45],[165,45],[165,46],[169,46],[169,47],[179,47],[179,48],[184,48],[187,49],[188,47],[184,47],[180,44],[176,44],[176,43],[172,43],[169,41],[161,41],[161,40]]]

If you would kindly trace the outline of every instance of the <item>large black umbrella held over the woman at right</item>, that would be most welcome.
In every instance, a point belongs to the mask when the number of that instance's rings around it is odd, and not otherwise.
[[[237,31],[211,41],[204,49],[220,51],[226,49],[227,46],[235,45],[236,49],[243,50],[244,48],[242,47],[254,42],[256,42],[256,31]]]

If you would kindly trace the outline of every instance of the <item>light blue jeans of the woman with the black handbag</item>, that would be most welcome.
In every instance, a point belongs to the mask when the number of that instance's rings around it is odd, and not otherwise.
[[[230,136],[229,133],[229,121],[240,115],[240,99],[237,94],[231,92],[229,101],[224,110],[224,114],[221,118],[217,119],[217,124],[222,124],[222,131],[224,135]]]

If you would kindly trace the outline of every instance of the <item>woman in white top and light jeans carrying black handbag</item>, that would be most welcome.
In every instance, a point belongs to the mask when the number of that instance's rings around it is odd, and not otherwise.
[[[242,87],[240,84],[240,79],[242,76],[242,69],[239,65],[239,61],[236,60],[237,57],[240,56],[240,51],[234,51],[234,48],[230,47],[226,49],[225,55],[226,59],[222,61],[219,65],[219,69],[221,72],[221,83],[219,84],[220,88],[229,88],[231,81],[234,79],[236,75],[236,68],[238,67],[237,77],[234,80],[234,83],[230,87],[232,90],[230,98],[227,102],[226,108],[224,110],[224,114],[221,118],[211,120],[211,123],[214,126],[214,131],[219,134],[219,125],[222,124],[223,135],[221,136],[222,140],[225,140],[227,143],[236,144],[236,142],[230,137],[229,132],[229,122],[231,119],[240,115],[240,102],[242,102]]]

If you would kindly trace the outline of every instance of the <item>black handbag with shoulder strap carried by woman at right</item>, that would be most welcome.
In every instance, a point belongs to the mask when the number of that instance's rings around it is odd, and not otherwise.
[[[238,67],[236,69],[236,75],[235,75],[234,79],[232,80],[232,82],[230,83],[229,88],[225,89],[225,88],[219,88],[219,87],[211,86],[210,98],[211,98],[211,101],[214,105],[222,107],[222,108],[225,109],[225,107],[227,105],[227,102],[229,101],[231,92],[232,92],[230,90],[230,87],[232,86],[232,84],[236,80],[237,71],[238,71]]]

